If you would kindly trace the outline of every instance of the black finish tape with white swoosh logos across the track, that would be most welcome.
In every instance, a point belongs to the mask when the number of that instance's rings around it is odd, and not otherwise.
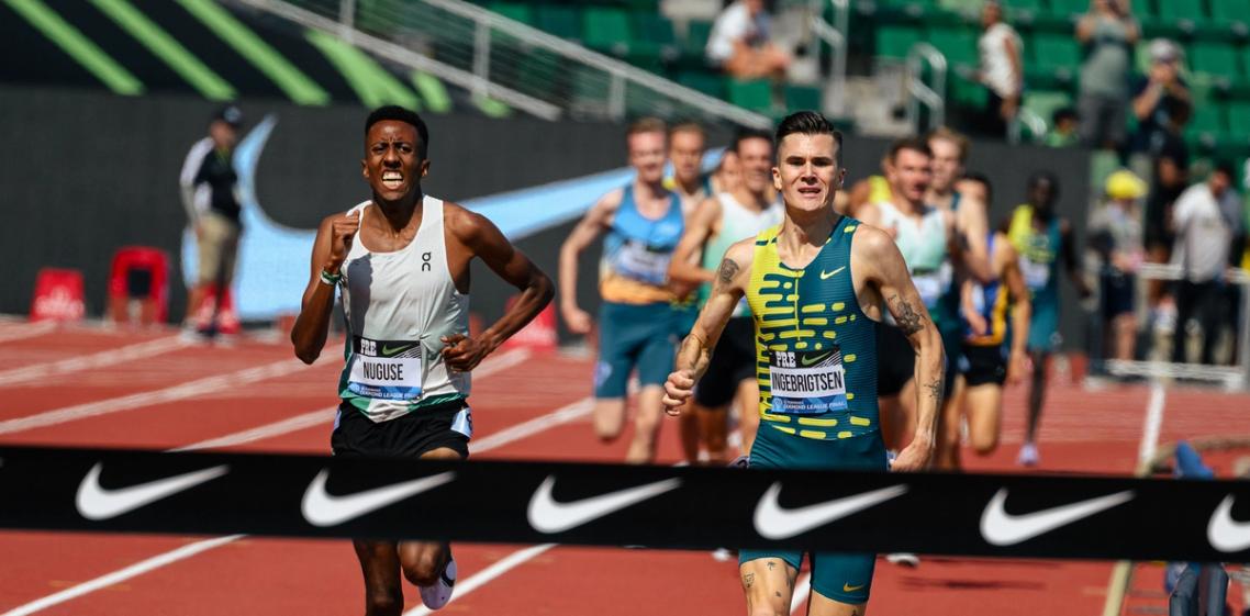
[[[1250,561],[1250,484],[0,447],[0,527]]]

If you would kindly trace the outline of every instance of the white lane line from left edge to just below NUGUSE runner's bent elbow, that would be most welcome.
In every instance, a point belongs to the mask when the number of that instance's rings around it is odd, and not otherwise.
[[[110,397],[108,400],[66,406],[52,411],[40,412],[38,415],[0,421],[0,435],[32,430],[36,427],[54,426],[56,424],[65,424],[68,421],[75,421],[84,417],[129,411],[162,402],[185,400],[228,387],[238,387],[240,385],[264,381],[266,379],[276,379],[305,367],[306,366],[304,364],[300,364],[294,359],[282,360],[272,364],[265,364],[262,366],[238,370],[225,375],[209,376],[206,379],[199,379],[160,390],[144,391],[140,394],[130,394],[120,397]]]

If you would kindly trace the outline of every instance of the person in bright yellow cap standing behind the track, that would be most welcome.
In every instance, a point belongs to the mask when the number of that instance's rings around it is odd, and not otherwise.
[[[1138,201],[1146,196],[1146,182],[1129,170],[1106,179],[1106,202],[1090,215],[1090,247],[1101,257],[1099,296],[1104,331],[1110,332],[1111,352],[1104,356],[1134,359],[1138,336],[1136,272],[1145,260]]]

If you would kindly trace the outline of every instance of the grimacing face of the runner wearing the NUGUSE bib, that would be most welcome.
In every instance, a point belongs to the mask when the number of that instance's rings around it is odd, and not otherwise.
[[[416,126],[400,120],[382,120],[369,127],[365,136],[362,175],[374,195],[384,201],[400,201],[419,191],[430,161],[421,157],[421,137]]]

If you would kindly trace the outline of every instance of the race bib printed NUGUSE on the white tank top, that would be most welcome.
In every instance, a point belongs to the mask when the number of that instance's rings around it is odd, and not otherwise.
[[[416,400],[421,396],[421,342],[352,340],[348,390],[378,400]]]

